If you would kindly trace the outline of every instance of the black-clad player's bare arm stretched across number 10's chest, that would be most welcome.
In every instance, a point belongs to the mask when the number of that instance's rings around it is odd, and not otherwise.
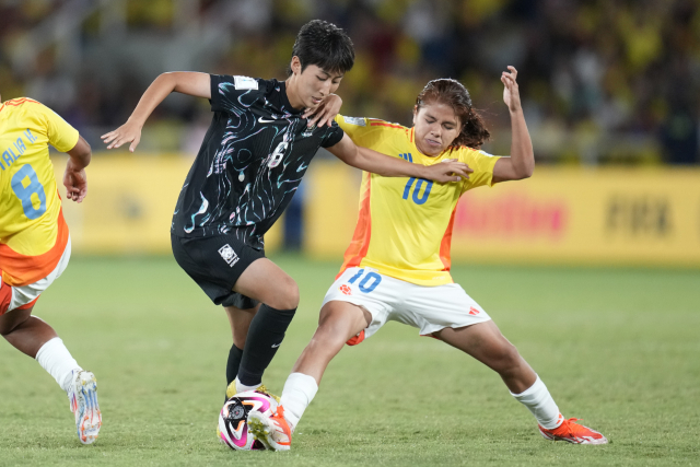
[[[355,145],[348,135],[345,135],[336,145],[328,148],[328,151],[348,165],[385,177],[416,177],[447,183],[459,182],[462,177],[469,178],[469,173],[474,172],[464,162],[454,160],[445,161],[444,164],[422,165],[389,157]]]

